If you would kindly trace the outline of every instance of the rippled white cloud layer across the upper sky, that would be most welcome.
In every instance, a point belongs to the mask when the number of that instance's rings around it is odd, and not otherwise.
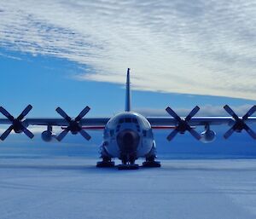
[[[256,100],[255,1],[9,0],[0,45],[86,65],[79,80]]]

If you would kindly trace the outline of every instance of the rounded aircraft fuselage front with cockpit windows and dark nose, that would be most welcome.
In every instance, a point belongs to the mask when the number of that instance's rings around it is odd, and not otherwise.
[[[137,158],[154,156],[154,147],[148,120],[137,112],[121,112],[105,126],[101,153],[132,163]]]

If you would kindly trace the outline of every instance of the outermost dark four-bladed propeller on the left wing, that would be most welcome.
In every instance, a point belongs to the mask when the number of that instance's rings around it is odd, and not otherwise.
[[[7,130],[3,132],[3,134],[0,136],[0,139],[4,141],[7,136],[11,133],[12,130],[15,131],[15,133],[21,133],[24,132],[26,136],[29,138],[33,138],[33,134],[30,130],[26,129],[26,125],[23,122],[23,118],[26,117],[27,113],[32,110],[32,106],[28,105],[21,113],[20,116],[17,118],[14,118],[6,109],[3,107],[0,107],[0,112],[9,119],[9,121],[12,123]]]

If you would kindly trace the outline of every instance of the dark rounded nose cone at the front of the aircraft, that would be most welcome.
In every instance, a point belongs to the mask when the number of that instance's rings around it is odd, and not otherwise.
[[[117,135],[117,142],[121,153],[136,153],[140,136],[134,130],[123,130]]]

